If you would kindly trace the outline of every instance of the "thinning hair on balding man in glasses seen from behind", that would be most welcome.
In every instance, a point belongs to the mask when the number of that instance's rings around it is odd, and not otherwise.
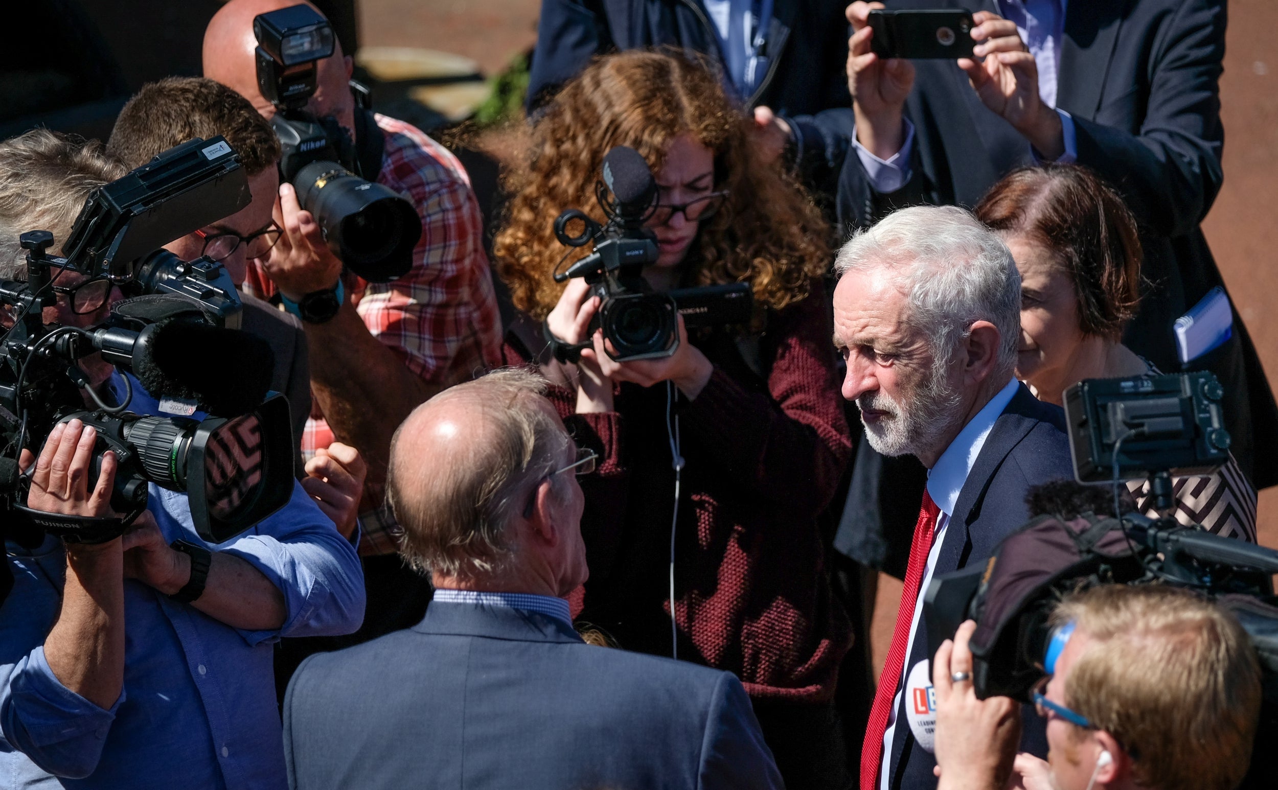
[[[546,380],[529,369],[493,371],[440,392],[395,431],[386,501],[404,529],[400,554],[409,565],[455,577],[489,574],[514,559],[510,523],[573,444],[542,405],[544,392]],[[401,435],[418,412],[463,398],[474,404],[469,446],[447,458],[405,456]]]

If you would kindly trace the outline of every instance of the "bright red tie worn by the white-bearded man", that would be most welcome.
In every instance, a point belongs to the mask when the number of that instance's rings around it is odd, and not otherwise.
[[[883,662],[878,690],[874,693],[874,707],[865,725],[865,743],[861,745],[861,790],[877,790],[879,764],[883,762],[883,734],[887,732],[887,716],[901,683],[901,670],[905,665],[905,651],[910,647],[910,623],[914,620],[914,605],[919,600],[919,585],[923,584],[923,569],[928,565],[928,552],[932,551],[932,536],[937,531],[937,516],[941,509],[932,501],[928,490],[923,490],[923,507],[919,509],[919,523],[914,525],[914,539],[910,542],[910,562],[905,566],[905,587],[901,589],[901,608],[896,612],[896,629],[892,631],[892,647]],[[897,722],[900,724],[900,722]]]

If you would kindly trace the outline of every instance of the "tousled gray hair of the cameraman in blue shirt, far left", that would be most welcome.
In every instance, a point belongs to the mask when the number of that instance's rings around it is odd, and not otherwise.
[[[96,139],[33,129],[0,142],[0,279],[27,276],[18,236],[47,230],[60,251],[89,193],[124,174]]]

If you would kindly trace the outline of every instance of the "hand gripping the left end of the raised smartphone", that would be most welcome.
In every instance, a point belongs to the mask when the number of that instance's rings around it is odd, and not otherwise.
[[[845,12],[852,24],[847,40],[847,89],[856,114],[856,139],[879,159],[891,159],[905,143],[905,100],[914,88],[914,64],[901,58],[879,59],[870,51],[872,10],[882,3],[858,0]]]

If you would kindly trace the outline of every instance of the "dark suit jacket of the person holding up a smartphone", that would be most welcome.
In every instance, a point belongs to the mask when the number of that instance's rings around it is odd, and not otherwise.
[[[994,0],[888,0],[889,8],[944,5],[998,10]],[[1181,369],[1172,322],[1223,284],[1199,222],[1223,179],[1218,82],[1224,28],[1224,0],[1066,5],[1057,106],[1074,118],[1079,164],[1118,188],[1141,225],[1143,275],[1150,285],[1125,341],[1163,371]],[[909,184],[874,193],[860,160],[845,156],[841,134],[827,134],[829,164],[842,162],[838,216],[849,226],[920,202],[974,207],[999,178],[1034,162],[1025,138],[985,109],[953,61],[914,65],[906,101],[915,127]],[[851,110],[837,110],[815,123],[846,134],[850,116]],[[1261,488],[1278,483],[1278,458],[1255,453],[1264,438],[1278,438],[1278,407],[1237,313],[1233,326],[1233,339],[1200,366],[1226,386],[1233,453]]]

